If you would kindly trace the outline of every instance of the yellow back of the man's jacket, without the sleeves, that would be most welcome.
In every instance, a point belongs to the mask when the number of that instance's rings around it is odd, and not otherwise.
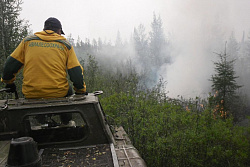
[[[35,35],[24,39],[23,93],[27,98],[63,97],[69,89],[66,65],[71,46],[56,33]]]

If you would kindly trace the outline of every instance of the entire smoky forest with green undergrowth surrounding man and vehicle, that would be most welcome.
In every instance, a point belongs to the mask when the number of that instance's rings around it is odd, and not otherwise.
[[[19,18],[21,1],[0,3],[2,74],[6,58],[31,32],[29,22]],[[87,91],[103,90],[100,101],[109,123],[124,127],[150,167],[250,166],[250,36],[237,41],[234,32],[217,35],[207,46],[208,55],[201,55],[217,57],[211,60],[207,97],[173,98],[168,81],[158,73],[175,61],[174,35],[164,34],[163,24],[152,13],[151,30],[135,25],[128,41],[119,31],[115,41],[68,35],[84,68]],[[214,53],[218,46],[220,52]],[[22,72],[15,83],[22,97]]]

